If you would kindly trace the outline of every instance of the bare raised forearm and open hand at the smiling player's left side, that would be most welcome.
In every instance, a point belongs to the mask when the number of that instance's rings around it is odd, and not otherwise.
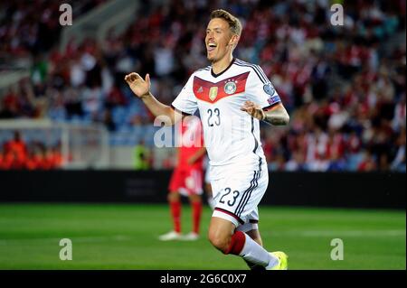
[[[140,98],[144,102],[154,116],[166,116],[163,118],[166,125],[175,125],[175,123],[182,118],[180,112],[176,111],[173,107],[161,103],[151,94],[151,82],[148,74],[146,75],[146,79],[142,79],[136,72],[132,72],[126,75],[125,80],[128,83],[128,87],[131,88],[137,98]],[[170,123],[168,123],[167,119],[169,119]]]

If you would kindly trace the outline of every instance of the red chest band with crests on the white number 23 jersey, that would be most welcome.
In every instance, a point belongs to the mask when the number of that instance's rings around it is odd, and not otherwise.
[[[249,73],[245,72],[215,83],[195,76],[194,95],[196,98],[212,104],[222,98],[242,93],[246,90],[246,80]]]

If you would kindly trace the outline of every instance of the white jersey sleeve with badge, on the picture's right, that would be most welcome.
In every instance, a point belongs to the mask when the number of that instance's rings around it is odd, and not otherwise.
[[[270,79],[258,65],[254,65],[248,79],[246,88],[247,97],[255,104],[260,105],[263,110],[274,107],[281,103],[279,94]]]

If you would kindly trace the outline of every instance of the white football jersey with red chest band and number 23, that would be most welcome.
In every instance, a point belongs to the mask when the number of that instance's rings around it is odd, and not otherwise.
[[[199,109],[211,179],[222,178],[227,171],[238,168],[259,169],[266,162],[259,120],[241,111],[247,100],[264,109],[280,102],[258,65],[233,59],[219,74],[214,74],[211,66],[194,71],[172,103],[175,109],[189,115]]]

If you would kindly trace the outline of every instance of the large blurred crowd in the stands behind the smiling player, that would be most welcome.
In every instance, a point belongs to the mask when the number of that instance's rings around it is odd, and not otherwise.
[[[343,26],[330,23],[324,0],[141,5],[127,31],[103,43],[31,51],[31,78],[1,98],[0,118],[103,123],[112,139],[151,126],[124,75],[150,73],[153,93],[170,104],[208,64],[205,23],[222,7],[244,26],[234,56],[258,63],[289,110],[287,128],[261,132],[270,170],[405,172],[405,44],[389,41],[405,34],[405,1],[342,5]]]

